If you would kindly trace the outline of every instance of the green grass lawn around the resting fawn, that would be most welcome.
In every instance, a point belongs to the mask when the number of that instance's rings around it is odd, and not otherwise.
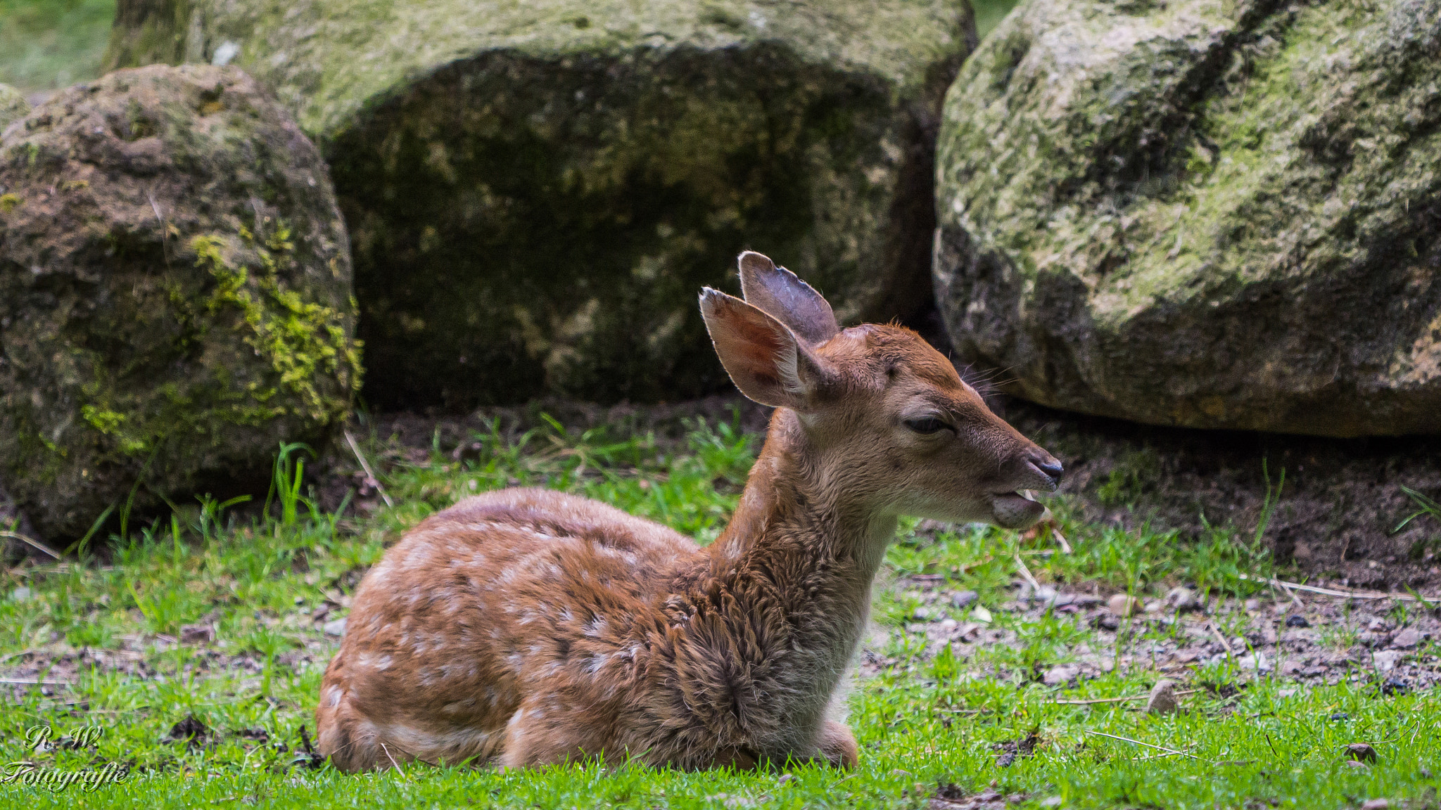
[[[206,503],[163,525],[127,526],[104,555],[85,551],[84,564],[0,572],[0,676],[42,682],[0,686],[3,762],[29,761],[37,773],[104,773],[108,762],[128,770],[121,784],[94,793],[0,784],[0,806],[1437,806],[1437,690],[1398,686],[1363,664],[1310,680],[1254,666],[1259,647],[1246,638],[1280,621],[1277,597],[1239,577],[1270,568],[1254,551],[1255,528],[1182,542],[1071,522],[1063,500],[1053,507],[1074,553],[1055,551],[1049,532],[904,529],[853,683],[855,773],[610,764],[344,775],[318,765],[304,752],[301,726],[314,731],[339,618],[360,572],[403,526],[473,491],[535,484],[709,540],[758,450],[757,437],[713,421],[690,421],[674,435],[539,424],[527,432],[497,424],[455,447],[437,432],[429,448],[372,428],[360,444],[393,509],[369,487],[333,512],[304,497],[277,497],[265,516],[254,504]],[[304,454],[287,458],[281,484]],[[330,480],[363,479],[349,471]],[[1053,597],[1095,602],[1131,592],[1154,608],[1177,584],[1192,587],[1206,611],[1117,618]],[[1376,610],[1389,613],[1372,627],[1431,620],[1415,607]],[[1359,637],[1342,620],[1327,627],[1316,631],[1327,649],[1352,649]],[[1206,631],[1222,638],[1212,649],[1225,654],[1159,663],[1156,650],[1205,650]],[[1422,643],[1405,672],[1429,672],[1437,651]],[[1075,702],[1146,695],[1161,675],[1185,693],[1177,713],[1148,715],[1141,700]],[[52,738],[36,749],[26,735],[42,724]],[[1356,742],[1370,744],[1376,758],[1347,761]]]

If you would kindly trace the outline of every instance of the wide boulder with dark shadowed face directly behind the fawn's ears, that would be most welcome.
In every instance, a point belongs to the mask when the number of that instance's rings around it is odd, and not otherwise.
[[[696,308],[764,249],[843,319],[932,303],[967,0],[122,0],[114,63],[232,61],[331,166],[379,405],[726,385]]]

